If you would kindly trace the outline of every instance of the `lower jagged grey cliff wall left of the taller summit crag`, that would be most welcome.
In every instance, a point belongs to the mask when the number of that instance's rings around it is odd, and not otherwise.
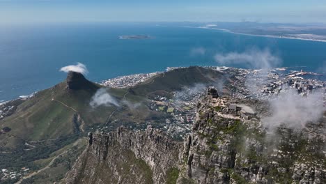
[[[63,183],[166,183],[178,177],[181,145],[158,130],[95,132]]]

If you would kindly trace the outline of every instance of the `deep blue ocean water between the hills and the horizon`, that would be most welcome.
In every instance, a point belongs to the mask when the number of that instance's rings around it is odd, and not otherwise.
[[[121,40],[122,35],[149,35]],[[326,43],[244,36],[155,24],[46,24],[0,27],[0,102],[47,89],[65,79],[63,66],[84,63],[93,81],[168,66],[216,66],[217,53],[270,49],[281,66],[326,66]],[[204,48],[205,54],[192,54]],[[247,66],[235,66],[247,67]]]

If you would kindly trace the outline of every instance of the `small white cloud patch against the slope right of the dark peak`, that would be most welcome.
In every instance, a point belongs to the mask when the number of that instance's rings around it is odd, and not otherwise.
[[[95,95],[93,95],[89,105],[91,105],[91,107],[93,107],[93,108],[99,107],[101,105],[104,105],[107,107],[115,105],[116,107],[120,107],[117,100],[114,97],[112,97],[107,92],[107,90],[104,88],[98,89],[98,91],[96,91],[96,93],[95,93]]]

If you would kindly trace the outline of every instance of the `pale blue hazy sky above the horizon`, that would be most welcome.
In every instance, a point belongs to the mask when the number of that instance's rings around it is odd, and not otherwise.
[[[183,21],[326,23],[326,0],[0,0],[0,24]]]

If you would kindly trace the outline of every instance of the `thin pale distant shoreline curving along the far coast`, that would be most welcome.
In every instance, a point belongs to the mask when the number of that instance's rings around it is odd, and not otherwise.
[[[265,38],[279,38],[279,39],[291,39],[291,40],[305,40],[305,41],[313,41],[313,42],[321,42],[321,43],[326,43],[326,40],[318,40],[318,39],[308,39],[308,38],[293,38],[289,36],[272,36],[272,35],[257,35],[257,34],[250,34],[250,33],[238,33],[234,31],[230,31],[228,29],[219,29],[219,28],[212,28],[209,26],[181,26],[183,28],[196,28],[196,29],[210,29],[210,30],[217,30],[217,31],[223,31],[226,33],[233,33],[233,34],[238,34],[238,35],[243,35],[243,36],[257,36],[257,37],[265,37]]]

